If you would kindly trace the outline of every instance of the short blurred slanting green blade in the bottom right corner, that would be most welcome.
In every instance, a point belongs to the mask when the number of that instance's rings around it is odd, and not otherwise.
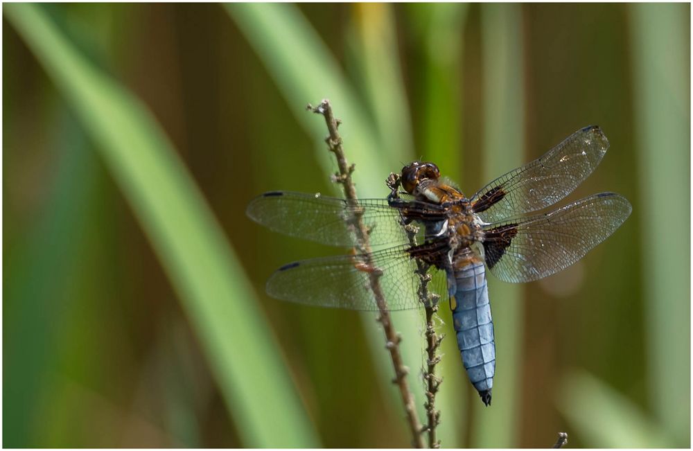
[[[664,430],[638,406],[593,375],[576,372],[563,378],[559,410],[590,448],[667,448]]]

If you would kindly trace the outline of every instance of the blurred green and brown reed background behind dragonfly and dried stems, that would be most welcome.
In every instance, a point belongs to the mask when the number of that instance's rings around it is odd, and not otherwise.
[[[245,218],[423,157],[473,194],[568,134],[568,200],[631,218],[536,283],[491,280],[493,405],[450,312],[444,447],[690,447],[690,5],[3,5],[3,446],[407,447],[374,315],[269,299],[337,254]],[[493,278],[491,276],[491,278]],[[423,415],[421,315],[394,315]]]

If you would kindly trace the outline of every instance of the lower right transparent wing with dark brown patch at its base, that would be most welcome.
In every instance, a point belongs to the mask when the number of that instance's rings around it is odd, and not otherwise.
[[[631,214],[615,193],[599,193],[545,215],[512,218],[484,229],[484,260],[506,282],[550,276],[577,262]]]

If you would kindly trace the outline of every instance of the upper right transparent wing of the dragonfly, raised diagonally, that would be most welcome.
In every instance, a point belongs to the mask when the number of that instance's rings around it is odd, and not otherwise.
[[[597,125],[574,132],[542,157],[484,186],[472,208],[484,222],[541,210],[570,194],[602,161],[608,140]]]

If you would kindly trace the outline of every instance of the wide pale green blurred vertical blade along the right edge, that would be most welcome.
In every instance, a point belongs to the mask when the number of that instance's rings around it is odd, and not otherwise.
[[[690,447],[690,5],[631,10],[642,285],[651,405]]]

